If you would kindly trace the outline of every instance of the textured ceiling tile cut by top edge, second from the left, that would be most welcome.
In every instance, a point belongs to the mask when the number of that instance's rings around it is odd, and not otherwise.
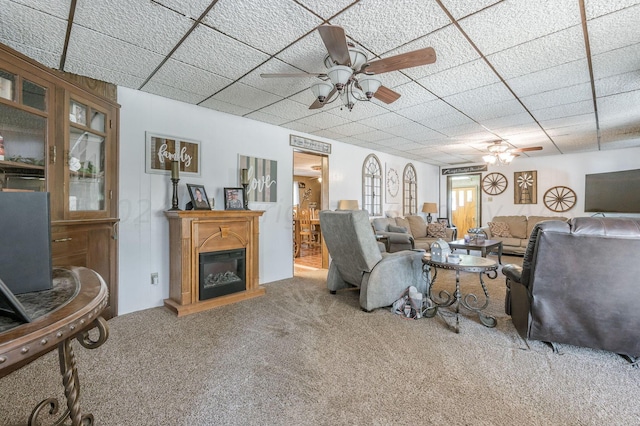
[[[153,2],[130,0],[78,0],[74,22],[165,55],[193,24]]]

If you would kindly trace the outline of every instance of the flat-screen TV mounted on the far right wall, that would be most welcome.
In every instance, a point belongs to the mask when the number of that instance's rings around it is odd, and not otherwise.
[[[586,175],[584,211],[640,213],[640,169]]]

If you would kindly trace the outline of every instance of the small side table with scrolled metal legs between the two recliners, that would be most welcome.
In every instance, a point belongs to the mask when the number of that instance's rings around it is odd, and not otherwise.
[[[463,308],[477,313],[480,322],[484,326],[495,327],[497,324],[495,317],[483,312],[483,310],[489,305],[489,291],[487,290],[487,286],[483,280],[483,275],[486,275],[491,279],[495,279],[498,276],[498,264],[493,260],[483,257],[469,255],[461,255],[460,257],[462,259],[460,263],[436,262],[431,260],[429,257],[424,257],[422,259],[422,267],[425,273],[433,271],[433,277],[427,285],[427,298],[431,300],[433,305],[430,308],[427,308],[423,315],[427,318],[433,318],[436,314],[440,313],[441,316],[443,316],[440,308],[455,305],[455,311],[453,314],[455,315],[456,322],[453,328],[456,333],[459,333],[460,306],[462,305]],[[435,297],[432,294],[431,290],[438,276],[438,269],[449,269],[456,272],[456,287],[453,294],[446,290],[440,290],[438,295]],[[480,285],[482,286],[482,291],[484,293],[484,303],[478,303],[478,296],[473,293],[468,293],[464,296],[462,295],[462,292],[460,291],[460,272],[472,272],[478,274]],[[446,319],[444,319],[444,321],[450,326]]]

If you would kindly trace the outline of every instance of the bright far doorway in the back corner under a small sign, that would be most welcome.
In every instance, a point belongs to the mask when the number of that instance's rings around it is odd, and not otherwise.
[[[459,237],[480,227],[480,174],[448,176],[447,198],[451,222],[458,228]]]

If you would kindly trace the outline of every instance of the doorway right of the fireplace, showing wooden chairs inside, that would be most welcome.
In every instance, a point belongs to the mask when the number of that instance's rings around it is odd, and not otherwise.
[[[328,204],[328,157],[306,151],[293,152],[293,256],[295,267],[328,267],[319,212]],[[295,275],[294,268],[294,275]]]

